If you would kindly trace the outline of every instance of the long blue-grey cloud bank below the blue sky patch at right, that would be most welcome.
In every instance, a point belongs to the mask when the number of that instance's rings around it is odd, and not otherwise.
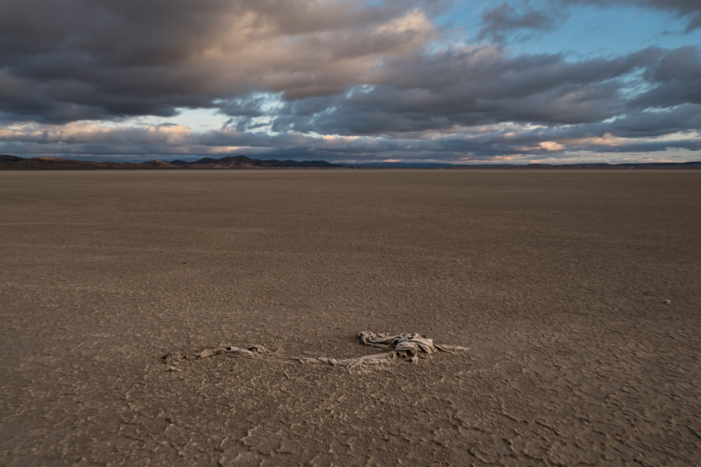
[[[381,84],[287,102],[271,116],[273,129],[396,135],[501,122],[596,123],[628,112],[625,78],[636,71],[649,89],[638,99],[658,93],[661,100],[669,94],[673,105],[695,102],[699,60],[695,57],[696,65],[683,61],[694,57],[693,50],[648,48],[581,62],[562,55],[508,57],[493,46],[409,57],[389,64]],[[677,62],[685,63],[688,78],[681,74],[668,87],[662,70]]]

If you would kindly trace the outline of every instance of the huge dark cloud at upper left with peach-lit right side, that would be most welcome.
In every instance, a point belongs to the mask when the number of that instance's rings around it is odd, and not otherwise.
[[[418,1],[6,0],[6,118],[172,116],[257,90],[330,95],[434,34]]]

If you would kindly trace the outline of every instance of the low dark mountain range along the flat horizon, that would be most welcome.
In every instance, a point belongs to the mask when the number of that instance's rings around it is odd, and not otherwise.
[[[223,158],[202,158],[193,162],[184,160],[149,160],[147,162],[92,162],[62,158],[20,158],[16,155],[0,155],[0,170],[106,170],[106,169],[290,169],[290,168],[367,168],[367,169],[701,169],[696,162],[641,162],[632,164],[484,164],[458,165],[423,162],[374,162],[342,165],[325,160],[261,160],[245,155],[228,155]]]

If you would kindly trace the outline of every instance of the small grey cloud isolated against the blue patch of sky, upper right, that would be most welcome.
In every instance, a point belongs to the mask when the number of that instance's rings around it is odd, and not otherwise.
[[[482,28],[477,32],[477,39],[503,42],[510,33],[521,29],[532,32],[552,31],[565,19],[566,13],[563,11],[538,11],[527,4],[519,11],[510,4],[503,3],[482,13]]]

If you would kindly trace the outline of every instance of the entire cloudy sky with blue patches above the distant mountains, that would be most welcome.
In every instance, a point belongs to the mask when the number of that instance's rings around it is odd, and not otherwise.
[[[701,160],[700,0],[3,0],[0,153]]]

